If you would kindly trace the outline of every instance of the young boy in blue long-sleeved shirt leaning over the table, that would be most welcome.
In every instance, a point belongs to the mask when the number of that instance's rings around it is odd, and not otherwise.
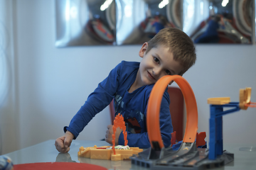
[[[114,98],[116,115],[122,114],[127,125],[130,147],[148,148],[146,108],[151,89],[165,75],[183,75],[196,62],[196,49],[191,38],[177,28],[164,28],[139,50],[142,61],[122,61],[100,82],[85,104],[64,128],[65,135],[55,141],[59,152],[68,152],[72,140],[78,137],[92,118]],[[170,83],[171,84],[171,83]],[[171,145],[171,114],[169,94],[164,92],[160,109],[161,137],[165,147]],[[148,125],[149,126],[149,125]],[[124,145],[122,130],[117,128],[115,145]],[[112,125],[107,126],[105,141],[112,144]]]

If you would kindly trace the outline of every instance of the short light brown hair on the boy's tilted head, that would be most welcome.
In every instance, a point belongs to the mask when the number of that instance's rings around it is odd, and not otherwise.
[[[149,52],[158,45],[169,47],[174,55],[174,60],[180,62],[183,67],[180,75],[184,74],[193,64],[196,63],[196,47],[191,38],[178,28],[164,28],[149,40],[146,52]]]

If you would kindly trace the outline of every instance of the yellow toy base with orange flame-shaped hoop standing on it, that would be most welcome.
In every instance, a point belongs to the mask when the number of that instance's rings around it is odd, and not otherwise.
[[[124,149],[115,149],[114,147],[114,139],[115,132],[117,128],[122,128],[124,134]],[[124,159],[129,159],[133,154],[139,154],[143,149],[139,149],[139,147],[128,147],[127,143],[127,132],[126,127],[124,125],[124,118],[120,113],[114,118],[113,125],[113,135],[112,135],[112,144],[113,146],[103,146],[97,147],[80,147],[78,152],[78,157],[85,157],[90,159],[111,159],[112,161],[120,161]],[[129,148],[129,149],[127,149]]]

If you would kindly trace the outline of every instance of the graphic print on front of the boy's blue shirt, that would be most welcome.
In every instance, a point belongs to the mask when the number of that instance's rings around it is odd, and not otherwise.
[[[115,96],[114,98],[114,111],[115,115],[120,113],[124,117],[124,122],[127,131],[132,133],[140,133],[142,126],[144,126],[144,114],[140,111],[128,111],[124,108],[122,96]]]

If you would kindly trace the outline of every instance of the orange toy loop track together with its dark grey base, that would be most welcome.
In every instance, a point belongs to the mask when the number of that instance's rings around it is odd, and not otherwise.
[[[161,139],[159,126],[159,112],[161,99],[166,86],[171,81],[176,81],[180,87],[186,103],[186,130],[183,142],[178,150],[171,147],[165,148]],[[171,97],[171,96],[170,96]],[[165,76],[154,85],[149,96],[146,124],[151,147],[130,157],[132,164],[144,166],[149,169],[205,169],[221,166],[233,161],[229,157],[218,157],[215,160],[208,159],[208,149],[196,147],[196,134],[198,130],[198,110],[196,98],[188,81],[181,76]]]

